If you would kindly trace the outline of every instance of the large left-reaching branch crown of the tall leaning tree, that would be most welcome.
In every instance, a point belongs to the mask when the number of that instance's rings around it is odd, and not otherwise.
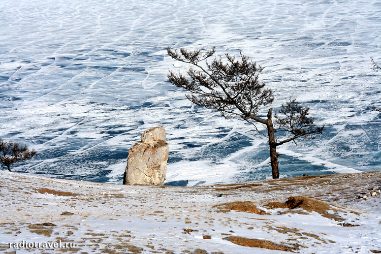
[[[176,49],[170,48],[167,48],[167,52],[172,58],[190,63],[200,70],[199,72],[192,68],[188,70],[190,81],[181,74],[174,74],[171,71],[168,73],[170,83],[199,94],[188,97],[196,105],[219,111],[224,117],[229,117],[225,113],[234,110],[247,117],[256,115],[261,106],[270,104],[274,100],[271,89],[264,89],[265,84],[258,82],[258,75],[263,68],[257,67],[248,57],[243,56],[239,61],[235,60],[234,56],[226,54],[228,62],[224,63],[221,57],[214,58],[210,64],[206,63],[207,70],[205,70],[198,62],[212,56],[215,52],[214,47],[206,53],[202,53],[199,49],[194,51],[180,49],[178,53]],[[200,87],[209,89],[209,96],[202,94]]]

